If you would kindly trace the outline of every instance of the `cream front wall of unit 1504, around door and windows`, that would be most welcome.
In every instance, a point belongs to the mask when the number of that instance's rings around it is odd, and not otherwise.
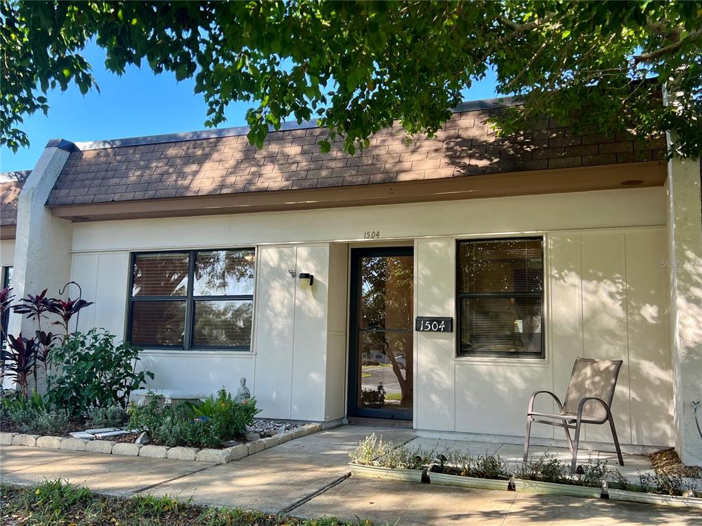
[[[72,278],[86,299],[96,299],[81,325],[121,336],[131,250],[257,246],[253,352],[147,350],[143,366],[156,372],[155,387],[172,389],[236,391],[245,376],[263,416],[331,420],[343,414],[345,398],[348,243],[371,230],[380,231],[378,245],[414,244],[416,315],[455,316],[456,238],[543,234],[546,360],[456,358],[455,335],[416,334],[415,426],[523,435],[531,391],[545,387],[562,396],[576,356],[606,353],[626,360],[615,405],[622,442],[668,444],[663,224],[661,188],[79,223]],[[314,274],[311,294],[299,290],[290,269]],[[663,402],[647,420],[641,393],[649,389]],[[548,428],[535,432],[552,436]]]

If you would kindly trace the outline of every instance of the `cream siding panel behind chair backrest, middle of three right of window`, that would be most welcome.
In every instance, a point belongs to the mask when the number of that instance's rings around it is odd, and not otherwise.
[[[624,360],[612,414],[620,441],[631,443],[624,234],[583,234],[582,251],[584,354]],[[585,439],[611,443],[609,426],[585,426]]]

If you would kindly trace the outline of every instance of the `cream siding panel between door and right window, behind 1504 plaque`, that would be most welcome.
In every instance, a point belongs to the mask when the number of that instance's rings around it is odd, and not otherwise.
[[[456,241],[418,241],[415,250],[415,316],[455,316]],[[414,424],[418,429],[456,429],[455,331],[414,333]],[[461,385],[458,389],[470,386]]]

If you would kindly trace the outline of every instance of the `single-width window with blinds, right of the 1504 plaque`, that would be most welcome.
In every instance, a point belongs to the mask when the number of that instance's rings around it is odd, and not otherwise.
[[[458,354],[543,358],[543,239],[457,248]]]

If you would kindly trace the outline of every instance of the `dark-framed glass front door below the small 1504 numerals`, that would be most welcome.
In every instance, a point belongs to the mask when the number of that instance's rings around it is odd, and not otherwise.
[[[413,248],[351,250],[350,417],[412,419]]]

